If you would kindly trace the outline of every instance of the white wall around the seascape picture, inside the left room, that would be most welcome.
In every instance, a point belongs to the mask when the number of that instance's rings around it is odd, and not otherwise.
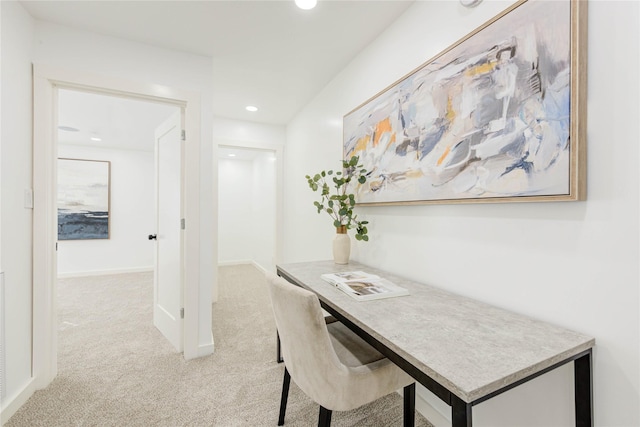
[[[60,144],[58,157],[111,162],[110,237],[59,241],[58,276],[152,270],[154,153]]]

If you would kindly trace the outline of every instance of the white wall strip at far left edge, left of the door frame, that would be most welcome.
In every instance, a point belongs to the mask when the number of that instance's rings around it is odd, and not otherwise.
[[[24,190],[32,187],[30,52],[34,23],[17,2],[3,1],[0,7],[0,269],[5,273],[2,315],[6,328],[6,396],[0,412],[4,412],[31,380],[32,210],[24,207]],[[16,401],[13,406],[20,403]]]

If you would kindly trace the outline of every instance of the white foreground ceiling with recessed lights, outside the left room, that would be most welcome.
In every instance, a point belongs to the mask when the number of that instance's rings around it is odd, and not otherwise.
[[[213,113],[286,124],[412,1],[22,1],[36,19],[211,57]],[[245,106],[255,105],[250,113]]]

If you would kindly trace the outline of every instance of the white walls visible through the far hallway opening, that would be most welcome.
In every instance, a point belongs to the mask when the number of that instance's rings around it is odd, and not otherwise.
[[[243,150],[244,151],[244,150]],[[254,159],[220,158],[218,262],[275,268],[275,153],[249,150]]]

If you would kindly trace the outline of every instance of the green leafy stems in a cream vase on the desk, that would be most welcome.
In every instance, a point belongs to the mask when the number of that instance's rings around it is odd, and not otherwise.
[[[351,182],[364,184],[367,170],[358,164],[359,157],[353,156],[342,161],[342,171],[321,171],[314,176],[306,175],[311,190],[320,192],[320,200],[313,205],[320,212],[326,212],[333,219],[336,236],[333,240],[333,257],[337,264],[349,262],[351,241],[347,230],[356,230],[356,240],[368,241],[368,221],[359,221],[353,213],[356,205],[354,193],[349,193]],[[333,187],[333,191],[332,191]]]

